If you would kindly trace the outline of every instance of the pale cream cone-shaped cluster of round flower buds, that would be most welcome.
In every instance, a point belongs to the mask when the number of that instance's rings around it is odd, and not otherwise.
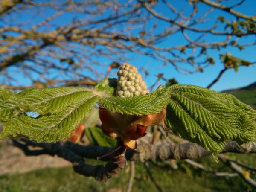
[[[124,63],[120,67],[117,76],[116,96],[133,97],[149,93],[145,81],[143,81],[136,67]]]

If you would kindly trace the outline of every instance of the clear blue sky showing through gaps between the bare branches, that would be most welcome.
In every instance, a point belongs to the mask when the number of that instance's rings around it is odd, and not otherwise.
[[[228,3],[233,3],[235,0],[232,1],[224,1],[225,4],[228,5]],[[179,1],[172,1],[172,5],[176,7],[178,11],[180,11],[182,8],[184,8],[184,14],[188,15],[190,10],[190,7],[188,7],[188,4],[185,0],[179,0]],[[256,7],[256,0],[247,0],[242,6],[239,6],[236,10],[241,11],[246,13],[247,15],[254,15],[255,14],[255,7]],[[205,5],[198,6],[198,12],[206,10],[208,7]],[[166,7],[163,7],[163,4],[159,3],[156,6],[156,10],[158,13],[166,15],[166,16],[171,16],[171,13],[166,9]],[[49,15],[52,15],[54,12],[52,10],[47,10],[45,12],[45,15],[42,15],[42,17],[35,17],[32,20],[31,24],[37,23],[40,20],[42,20],[43,17],[48,17]],[[199,14],[200,15],[200,14]],[[215,14],[209,15],[209,18],[217,18],[218,16],[225,16],[225,12],[222,11],[216,11]],[[31,19],[29,15],[19,15],[20,20],[28,20]],[[79,16],[78,16],[79,17]],[[64,24],[65,22],[68,22],[68,20],[72,20],[72,14],[67,14],[65,15],[66,19],[58,19],[58,24]],[[233,16],[227,17],[228,19],[232,20],[234,19]],[[153,23],[153,21],[152,21]],[[149,25],[152,23],[149,23]],[[157,30],[161,30],[161,24],[163,24],[163,27],[166,26],[166,23],[159,23],[160,25]],[[210,26],[211,23],[206,24],[206,26]],[[26,28],[26,26],[23,26]],[[188,34],[195,38],[198,34],[193,34],[192,32],[188,32]],[[213,36],[207,36],[207,41],[215,41],[216,37]],[[218,40],[224,40],[224,37],[220,37]],[[161,45],[168,46],[168,45],[179,45],[181,41],[184,41],[183,38],[181,38],[181,35],[173,35],[170,36],[170,38],[167,38],[166,41],[162,42]],[[250,36],[246,38],[240,38],[239,42],[252,42],[255,41],[255,37]],[[194,73],[194,74],[189,74],[189,75],[183,75],[178,73],[171,64],[168,64],[166,66],[163,66],[163,62],[156,61],[152,58],[146,57],[144,55],[137,55],[134,53],[124,55],[124,60],[127,59],[127,61],[130,64],[133,64],[135,66],[139,67],[145,67],[148,69],[148,72],[150,73],[149,76],[145,77],[145,81],[148,86],[154,84],[156,81],[156,74],[158,73],[164,73],[164,77],[166,79],[170,78],[175,78],[180,84],[193,84],[193,85],[198,85],[201,87],[207,87],[207,85],[218,76],[218,73],[220,70],[223,69],[223,64],[221,61],[218,59],[219,54],[225,54],[226,52],[230,52],[231,55],[254,62],[256,61],[256,46],[252,47],[245,47],[244,50],[240,51],[237,48],[233,47],[227,47],[227,49],[221,49],[219,52],[216,50],[212,50],[209,52],[209,55],[215,59],[216,63],[215,65],[207,67],[203,73]],[[102,64],[104,64],[104,67],[98,67],[96,66],[96,69],[102,70],[103,72],[106,71],[106,68],[108,64],[110,64],[112,61],[106,59],[106,58],[100,58],[100,61]],[[57,62],[57,61],[56,61]],[[116,70],[115,70],[116,71]],[[111,73],[113,74],[113,73]],[[114,75],[113,75],[114,77]],[[216,91],[221,91],[221,90],[227,90],[227,89],[232,89],[232,88],[237,88],[237,87],[243,87],[248,84],[251,84],[256,81],[256,64],[253,64],[253,66],[250,67],[240,67],[238,72],[235,73],[233,69],[227,70],[224,75],[221,77],[220,81],[218,81],[213,87],[211,88],[212,90]],[[30,81],[28,79],[20,78],[20,83],[24,85],[30,84]],[[165,81],[161,80],[160,84],[165,84]]]

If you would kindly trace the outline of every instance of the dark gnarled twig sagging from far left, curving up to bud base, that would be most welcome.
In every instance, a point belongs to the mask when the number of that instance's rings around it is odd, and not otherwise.
[[[17,141],[12,140],[13,145],[19,147],[24,151],[26,155],[40,155],[40,154],[50,154],[57,155],[58,157],[64,158],[73,164],[73,169],[75,172],[84,175],[95,177],[96,180],[105,181],[116,175],[121,169],[125,168],[127,161],[125,159],[126,147],[122,144],[121,140],[117,140],[116,149],[111,153],[111,157],[105,166],[97,165],[92,166],[84,163],[84,158],[70,149],[65,147],[65,142],[58,143],[35,143],[26,139]],[[24,143],[24,144],[23,144]],[[69,142],[67,142],[69,143]],[[29,150],[28,146],[42,147],[42,150]]]

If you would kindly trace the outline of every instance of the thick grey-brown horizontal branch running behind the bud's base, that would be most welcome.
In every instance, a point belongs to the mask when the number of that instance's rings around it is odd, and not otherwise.
[[[27,145],[38,146],[47,150],[52,150],[56,144],[53,143],[35,143],[29,140],[23,140]],[[97,159],[113,151],[113,148],[102,146],[84,146],[74,144],[69,141],[63,143],[63,147],[73,151],[77,155]],[[243,145],[238,145],[235,141],[227,141],[227,144],[222,153],[256,153],[256,143],[251,142]],[[202,148],[195,143],[181,143],[175,145],[138,145],[137,150],[128,149],[125,153],[127,160],[145,162],[146,160],[165,160],[165,159],[198,159],[208,156],[211,152]],[[101,160],[109,160],[109,157],[104,157]]]

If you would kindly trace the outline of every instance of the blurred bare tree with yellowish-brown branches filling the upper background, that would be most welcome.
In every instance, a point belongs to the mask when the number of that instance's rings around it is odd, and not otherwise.
[[[12,89],[27,88],[24,84],[94,86],[110,63],[121,64],[136,55],[185,74],[202,72],[216,60],[227,69],[247,66],[252,61],[211,57],[212,51],[242,51],[256,44],[256,17],[236,11],[246,3],[2,0],[0,84]],[[141,70],[149,73],[145,64]]]

